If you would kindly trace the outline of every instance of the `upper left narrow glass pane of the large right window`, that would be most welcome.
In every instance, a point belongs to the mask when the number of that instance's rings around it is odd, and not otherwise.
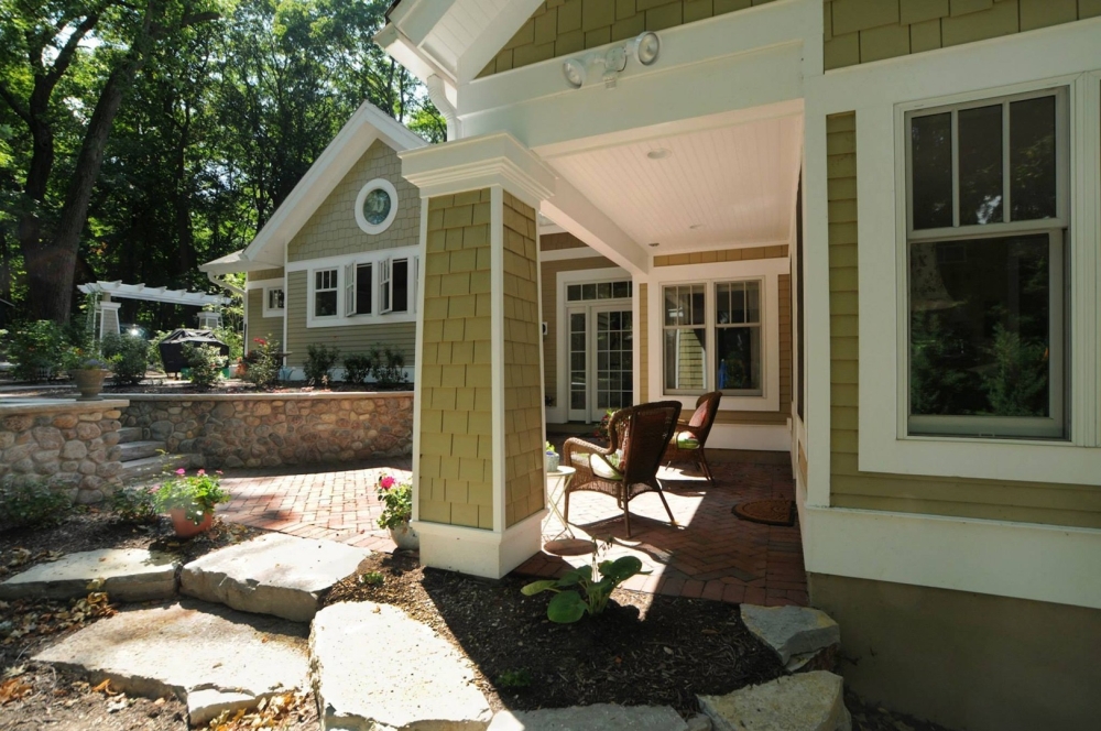
[[[914,229],[952,225],[952,116],[914,117],[909,124]]]

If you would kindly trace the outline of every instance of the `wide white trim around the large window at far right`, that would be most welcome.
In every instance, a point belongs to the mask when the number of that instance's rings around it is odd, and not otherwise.
[[[961,59],[962,61],[962,59]],[[914,73],[922,67],[914,63]],[[981,64],[975,64],[981,65]],[[1017,66],[1020,68],[1020,65]],[[895,69],[896,74],[905,73]],[[974,89],[961,79],[982,78],[981,69],[941,75],[939,84],[924,74],[920,88],[937,92],[926,100],[892,98],[895,84],[865,87],[857,105],[857,185],[860,287],[860,410],[859,467],[862,471],[992,480],[1101,484],[1098,449],[1098,349],[1076,347],[1098,340],[1092,312],[1099,282],[1095,249],[1097,145],[1101,131],[1097,73],[1036,78],[1000,88]],[[986,78],[990,78],[988,76]],[[973,80],[971,81],[973,84]],[[1067,383],[1070,415],[1068,441],[908,436],[908,290],[906,276],[905,113],[978,99],[1069,86],[1071,244],[1068,252],[1071,297],[1066,317],[1072,323]],[[895,92],[895,96],[898,96]],[[896,164],[900,161],[900,164]],[[1083,164],[1083,161],[1091,161]],[[894,186],[884,185],[894,181]],[[882,246],[895,241],[895,247]],[[1093,242],[1091,246],[1090,242]],[[874,408],[866,407],[876,404]]]

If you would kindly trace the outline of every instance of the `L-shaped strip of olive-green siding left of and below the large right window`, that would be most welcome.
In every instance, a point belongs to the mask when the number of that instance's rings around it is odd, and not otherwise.
[[[830,504],[1101,527],[1090,485],[861,472],[858,455],[857,118],[827,119],[830,286]]]

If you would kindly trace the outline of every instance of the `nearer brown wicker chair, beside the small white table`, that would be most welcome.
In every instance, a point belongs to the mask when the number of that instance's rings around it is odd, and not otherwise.
[[[577,469],[566,490],[565,519],[569,521],[569,495],[579,490],[603,492],[615,498],[623,509],[626,535],[631,537],[632,498],[644,492],[656,492],[676,525],[669,503],[665,501],[657,481],[665,445],[676,432],[680,404],[659,401],[621,408],[608,425],[610,446],[600,448],[584,439],[567,439],[563,448],[566,465]]]

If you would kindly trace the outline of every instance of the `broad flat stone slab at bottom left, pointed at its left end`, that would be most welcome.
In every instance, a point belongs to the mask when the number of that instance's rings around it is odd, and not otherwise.
[[[92,683],[109,679],[131,695],[175,696],[192,725],[308,681],[301,624],[194,600],[120,612],[34,659],[85,672]]]

